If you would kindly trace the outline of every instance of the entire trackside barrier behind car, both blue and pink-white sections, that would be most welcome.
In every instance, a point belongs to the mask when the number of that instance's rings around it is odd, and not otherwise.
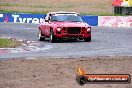
[[[46,14],[0,13],[0,22],[40,23]],[[132,16],[81,16],[91,26],[132,27]]]

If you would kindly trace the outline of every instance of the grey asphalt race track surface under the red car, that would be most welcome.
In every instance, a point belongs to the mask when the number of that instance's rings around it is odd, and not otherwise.
[[[23,46],[16,51],[5,49],[10,52],[0,53],[0,58],[132,55],[132,28],[92,27],[91,42],[65,40],[50,43],[48,39],[39,41],[37,35],[38,24],[0,23],[1,37],[13,37],[31,43],[24,47],[29,48],[28,51],[19,50]]]

